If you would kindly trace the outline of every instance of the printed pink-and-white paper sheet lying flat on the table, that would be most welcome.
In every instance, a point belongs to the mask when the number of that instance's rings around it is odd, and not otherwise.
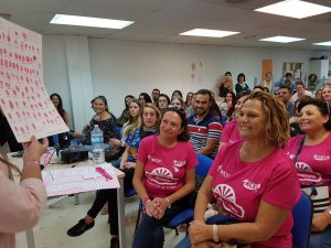
[[[42,172],[47,196],[68,195],[100,188],[119,187],[118,179],[110,164],[100,165],[113,177],[107,180],[95,166],[56,169]]]

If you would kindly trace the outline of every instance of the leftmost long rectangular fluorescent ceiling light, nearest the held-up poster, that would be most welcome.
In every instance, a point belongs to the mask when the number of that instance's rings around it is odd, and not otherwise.
[[[63,25],[82,25],[82,26],[93,26],[93,28],[104,28],[104,29],[118,29],[121,30],[134,22],[111,20],[103,18],[88,18],[68,14],[55,14],[52,24],[63,24]]]

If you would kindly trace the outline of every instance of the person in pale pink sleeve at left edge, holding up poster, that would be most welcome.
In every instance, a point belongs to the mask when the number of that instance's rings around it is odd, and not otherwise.
[[[23,143],[23,170],[21,182],[9,180],[14,165],[0,158],[0,247],[14,248],[14,234],[33,228],[46,202],[46,190],[41,176],[40,157],[46,151],[49,141],[40,144],[35,137]],[[8,170],[9,169],[9,170]]]

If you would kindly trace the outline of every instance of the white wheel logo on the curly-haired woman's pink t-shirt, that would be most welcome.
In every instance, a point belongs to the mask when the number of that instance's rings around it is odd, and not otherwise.
[[[225,211],[239,218],[244,218],[245,211],[236,204],[235,192],[229,185],[218,184],[213,188],[213,193],[215,194],[215,198],[222,200],[218,204],[222,204]]]

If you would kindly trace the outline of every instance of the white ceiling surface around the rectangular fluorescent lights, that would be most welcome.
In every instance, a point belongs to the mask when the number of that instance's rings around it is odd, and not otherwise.
[[[0,13],[41,34],[84,34],[131,41],[231,46],[331,50],[311,43],[331,41],[331,13],[292,19],[253,11],[279,0],[1,0]],[[330,0],[308,0],[331,7]],[[135,21],[124,30],[54,25],[55,13]],[[222,39],[178,35],[184,31],[215,29],[238,31]],[[286,35],[306,41],[280,44],[259,39]]]

